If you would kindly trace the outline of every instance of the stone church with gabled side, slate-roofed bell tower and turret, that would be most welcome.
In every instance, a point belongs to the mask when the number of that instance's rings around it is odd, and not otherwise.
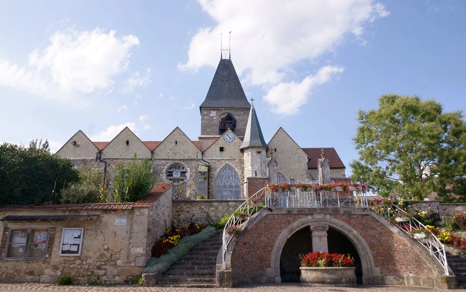
[[[175,128],[162,141],[141,141],[129,128],[110,142],[91,141],[81,130],[56,154],[77,167],[95,163],[105,170],[107,188],[119,161],[149,158],[155,183],[174,183],[186,196],[244,199],[264,184],[318,180],[321,148],[301,148],[279,128],[268,143],[254,105],[248,102],[231,59],[221,59],[200,105],[200,136],[192,141]],[[325,148],[330,176],[346,180],[334,148]]]

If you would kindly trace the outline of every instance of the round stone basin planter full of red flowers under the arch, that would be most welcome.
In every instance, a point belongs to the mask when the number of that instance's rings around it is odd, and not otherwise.
[[[310,286],[354,286],[356,274],[354,259],[349,255],[321,251],[301,258],[301,283]]]

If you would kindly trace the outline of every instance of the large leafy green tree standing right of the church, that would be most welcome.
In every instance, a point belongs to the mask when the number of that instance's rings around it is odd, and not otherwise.
[[[462,111],[444,112],[434,99],[383,95],[379,108],[359,110],[359,159],[350,163],[352,179],[368,183],[382,196],[393,190],[408,199],[432,191],[448,200],[463,194],[445,191],[466,174],[466,123]],[[455,188],[460,191],[461,188]]]

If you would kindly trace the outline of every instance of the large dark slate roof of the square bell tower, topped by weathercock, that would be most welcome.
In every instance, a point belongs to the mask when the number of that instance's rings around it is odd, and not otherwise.
[[[231,59],[220,59],[219,66],[207,92],[206,99],[200,108],[246,108],[247,101]]]

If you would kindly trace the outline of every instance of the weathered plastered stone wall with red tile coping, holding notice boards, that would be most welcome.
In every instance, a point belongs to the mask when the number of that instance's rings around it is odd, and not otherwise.
[[[0,207],[0,281],[56,283],[60,276],[71,276],[75,284],[129,284],[144,268],[154,238],[171,225],[171,199],[172,184],[161,183],[135,203]],[[8,259],[8,235],[29,228],[48,230],[46,257]],[[60,256],[63,228],[83,228],[80,255]],[[20,245],[8,248],[22,252]]]

